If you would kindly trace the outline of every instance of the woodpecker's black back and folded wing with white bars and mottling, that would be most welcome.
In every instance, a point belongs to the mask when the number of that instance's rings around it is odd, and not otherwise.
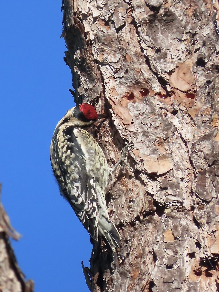
[[[73,130],[73,127],[67,127],[63,131],[57,129],[53,134],[53,172],[61,194],[69,201],[90,236],[98,240],[95,183],[88,176],[86,159]]]

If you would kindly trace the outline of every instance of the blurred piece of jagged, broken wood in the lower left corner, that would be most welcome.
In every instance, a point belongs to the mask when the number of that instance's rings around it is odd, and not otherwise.
[[[25,276],[18,266],[9,237],[18,240],[20,234],[11,227],[8,215],[0,202],[0,291],[33,292],[34,282],[32,280],[25,282]]]

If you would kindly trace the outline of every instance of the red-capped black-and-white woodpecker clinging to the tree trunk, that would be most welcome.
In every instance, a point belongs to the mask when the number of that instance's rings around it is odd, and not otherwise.
[[[109,169],[102,149],[85,130],[100,116],[87,103],[69,109],[53,133],[50,159],[60,194],[91,238],[103,238],[115,255],[120,235],[109,219],[105,201]]]

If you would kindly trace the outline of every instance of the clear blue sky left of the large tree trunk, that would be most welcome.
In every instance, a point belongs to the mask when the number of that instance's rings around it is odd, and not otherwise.
[[[35,292],[87,292],[90,237],[53,177],[49,148],[74,106],[60,1],[9,1],[1,9],[1,202],[22,238],[12,241]]]

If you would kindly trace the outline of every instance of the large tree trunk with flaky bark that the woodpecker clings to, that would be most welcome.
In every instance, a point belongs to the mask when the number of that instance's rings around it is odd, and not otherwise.
[[[91,291],[217,291],[218,1],[63,0],[76,103],[108,114],[109,165],[135,172],[107,195],[125,260],[95,252]],[[90,278],[91,277],[91,282]]]

